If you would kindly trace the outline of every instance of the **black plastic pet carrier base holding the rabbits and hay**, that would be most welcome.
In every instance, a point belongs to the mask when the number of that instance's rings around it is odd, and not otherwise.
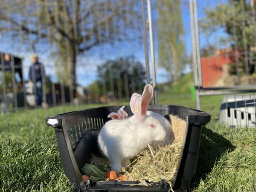
[[[110,120],[107,116],[122,106],[90,108],[83,111],[63,113],[46,119],[47,125],[55,128],[58,148],[64,173],[71,184],[79,191],[168,191],[169,185],[162,180],[153,186],[130,186],[136,181],[100,181],[86,183],[81,176],[81,168],[90,163],[92,154],[99,155],[97,137],[100,128]],[[173,114],[186,120],[183,148],[180,154],[177,173],[172,184],[175,191],[189,189],[190,181],[195,175],[198,151],[201,140],[201,127],[210,121],[208,113],[175,105],[148,106],[163,116]],[[131,116],[130,106],[125,111]]]

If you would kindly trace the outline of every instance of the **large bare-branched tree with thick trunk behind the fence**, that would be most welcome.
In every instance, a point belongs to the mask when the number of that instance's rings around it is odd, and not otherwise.
[[[125,40],[140,17],[135,0],[0,0],[0,32],[22,36],[32,47],[54,45],[59,76],[76,86],[76,56],[101,45]],[[60,80],[61,80],[60,79]]]

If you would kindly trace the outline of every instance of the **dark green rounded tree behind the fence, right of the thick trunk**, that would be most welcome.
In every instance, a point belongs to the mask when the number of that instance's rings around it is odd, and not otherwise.
[[[99,79],[90,85],[90,90],[97,87],[99,96],[112,92],[113,97],[123,98],[140,92],[145,85],[145,69],[134,56],[106,61],[98,67],[97,73]]]

